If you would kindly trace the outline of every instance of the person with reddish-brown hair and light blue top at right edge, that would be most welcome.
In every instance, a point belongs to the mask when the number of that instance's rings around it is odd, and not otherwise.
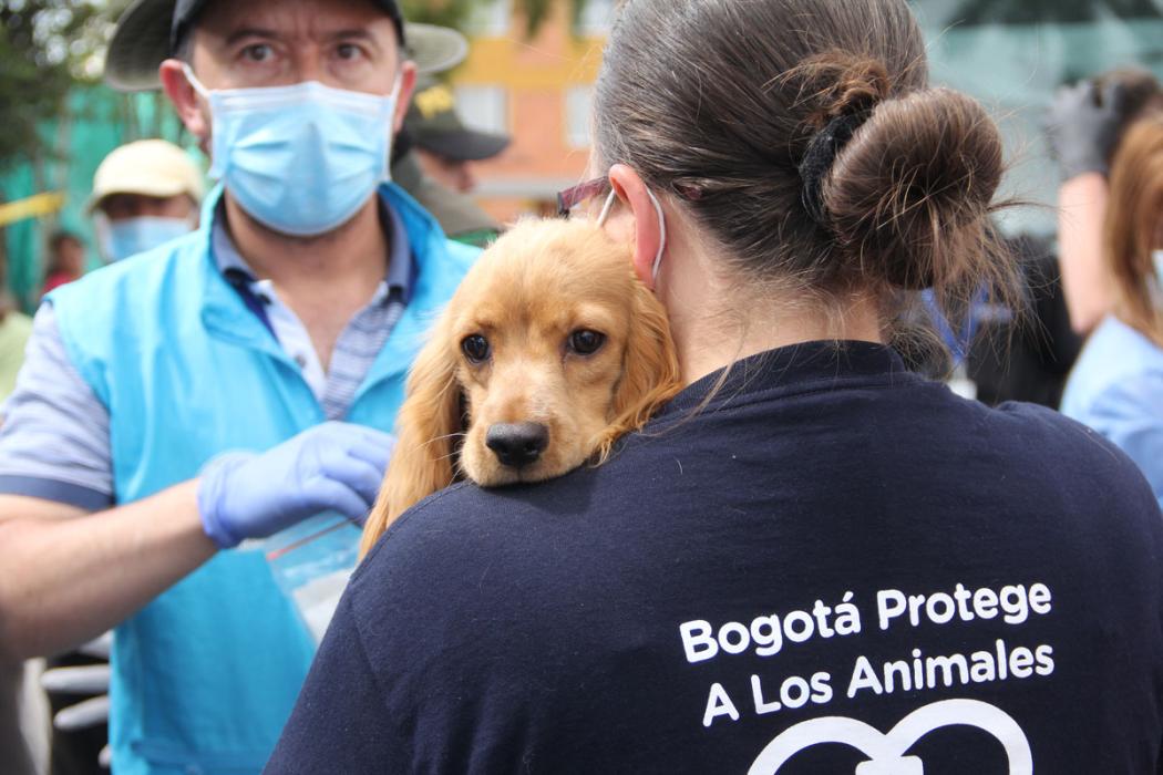
[[[1163,505],[1163,117],[1128,130],[1110,188],[1104,257],[1114,313],[1086,343],[1062,411],[1119,445]]]

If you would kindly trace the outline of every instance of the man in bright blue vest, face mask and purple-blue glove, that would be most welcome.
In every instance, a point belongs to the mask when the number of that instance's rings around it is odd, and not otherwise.
[[[248,773],[313,644],[259,552],[362,519],[422,335],[476,258],[386,182],[394,0],[137,0],[107,79],[212,158],[200,227],[49,295],[0,433],[0,655],[116,626],[117,773]]]

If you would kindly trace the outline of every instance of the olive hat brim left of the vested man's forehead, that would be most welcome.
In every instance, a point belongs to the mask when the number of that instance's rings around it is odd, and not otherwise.
[[[176,0],[136,0],[117,20],[105,59],[105,80],[122,92],[160,88],[157,69],[170,56]]]

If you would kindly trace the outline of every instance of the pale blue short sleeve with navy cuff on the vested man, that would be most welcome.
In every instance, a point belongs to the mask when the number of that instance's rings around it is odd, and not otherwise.
[[[69,359],[50,303],[33,322],[2,415],[0,494],[90,511],[113,504],[109,411]]]

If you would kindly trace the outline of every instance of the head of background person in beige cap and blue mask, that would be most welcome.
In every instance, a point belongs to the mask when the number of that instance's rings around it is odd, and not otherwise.
[[[185,151],[164,139],[114,150],[93,175],[88,210],[97,243],[113,263],[198,228],[202,175]]]

